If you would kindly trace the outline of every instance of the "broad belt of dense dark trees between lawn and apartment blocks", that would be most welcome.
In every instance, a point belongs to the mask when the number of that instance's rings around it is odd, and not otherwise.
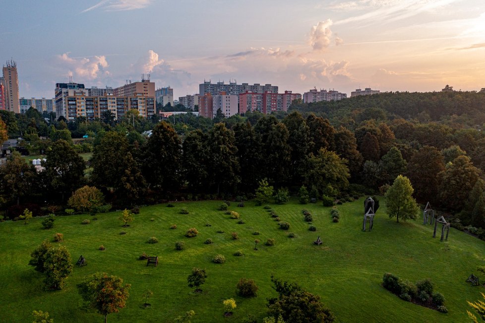
[[[67,122],[35,109],[0,111],[2,139],[45,154],[36,171],[14,153],[1,165],[8,218],[63,210],[96,187],[113,207],[168,199],[252,198],[262,180],[276,192],[333,200],[383,193],[402,174],[422,203],[485,238],[485,91],[381,93],[214,120],[165,121],[136,111]],[[151,136],[143,135],[153,130]],[[82,139],[87,134],[88,138]],[[92,152],[88,162],[79,155]]]

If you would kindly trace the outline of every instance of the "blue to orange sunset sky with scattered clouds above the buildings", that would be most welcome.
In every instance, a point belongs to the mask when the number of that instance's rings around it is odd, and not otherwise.
[[[198,84],[280,93],[485,87],[484,0],[18,0],[0,6],[0,63],[21,97],[55,84],[118,87],[150,74],[174,98]]]

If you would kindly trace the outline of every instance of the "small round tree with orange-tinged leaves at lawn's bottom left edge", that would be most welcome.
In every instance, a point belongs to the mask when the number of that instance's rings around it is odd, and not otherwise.
[[[130,286],[123,285],[121,278],[104,272],[94,274],[90,280],[78,284],[77,288],[83,300],[99,314],[104,315],[107,323],[108,314],[118,313],[125,307]]]

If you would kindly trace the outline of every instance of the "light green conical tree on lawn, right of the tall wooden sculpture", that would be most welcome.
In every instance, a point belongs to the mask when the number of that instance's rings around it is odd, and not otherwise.
[[[386,213],[390,218],[396,217],[399,223],[399,217],[403,221],[416,219],[420,212],[420,207],[412,194],[414,192],[411,182],[406,176],[399,175],[392,186],[386,192]]]

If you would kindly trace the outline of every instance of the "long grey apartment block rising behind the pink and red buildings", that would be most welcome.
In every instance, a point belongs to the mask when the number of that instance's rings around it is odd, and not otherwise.
[[[211,81],[204,81],[204,83],[199,84],[200,95],[204,95],[205,93],[217,95],[221,92],[226,92],[227,95],[239,95],[246,91],[251,91],[253,93],[265,93],[268,91],[271,93],[278,93],[278,86],[271,84],[261,85],[259,83],[253,85],[249,85],[248,83],[237,84],[236,82],[229,82],[229,84],[217,82],[213,84]]]

